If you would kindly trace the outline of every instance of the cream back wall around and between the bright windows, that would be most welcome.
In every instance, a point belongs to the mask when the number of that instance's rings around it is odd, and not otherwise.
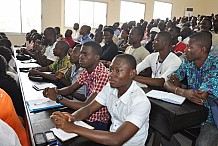
[[[95,0],[108,4],[107,25],[120,20],[120,0]],[[154,0],[126,0],[146,4],[145,20],[150,21],[153,17]],[[193,7],[193,15],[210,15],[218,13],[217,0],[161,0],[173,4],[172,16],[180,17],[184,15],[186,7]],[[42,0],[42,31],[46,27],[59,26],[62,34],[67,28],[64,27],[64,0]],[[25,34],[7,34],[13,44],[22,44],[25,41]]]

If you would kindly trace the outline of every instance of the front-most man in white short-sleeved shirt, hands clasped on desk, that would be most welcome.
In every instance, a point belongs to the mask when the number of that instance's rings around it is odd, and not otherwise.
[[[132,77],[136,60],[128,54],[117,55],[111,65],[109,82],[90,104],[74,112],[54,112],[57,128],[76,133],[104,145],[144,146],[149,126],[150,102]],[[110,131],[90,130],[73,124],[106,106],[111,115]]]

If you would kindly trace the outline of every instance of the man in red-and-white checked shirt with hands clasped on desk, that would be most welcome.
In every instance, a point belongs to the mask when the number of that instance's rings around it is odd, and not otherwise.
[[[88,105],[108,82],[108,69],[100,62],[102,48],[99,43],[90,41],[83,44],[80,51],[79,63],[84,68],[77,81],[71,86],[58,89],[46,88],[43,92],[45,97],[56,100],[58,103],[78,110]],[[85,102],[74,101],[64,98],[64,95],[75,93],[83,85],[87,89]],[[87,119],[95,129],[108,130],[109,114],[107,108],[102,107]]]

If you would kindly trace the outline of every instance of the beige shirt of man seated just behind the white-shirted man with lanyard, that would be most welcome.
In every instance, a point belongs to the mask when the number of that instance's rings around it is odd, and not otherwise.
[[[125,54],[130,54],[135,57],[136,63],[139,64],[144,60],[150,53],[145,47],[140,46],[138,48],[133,48],[133,46],[129,46],[125,50]]]

